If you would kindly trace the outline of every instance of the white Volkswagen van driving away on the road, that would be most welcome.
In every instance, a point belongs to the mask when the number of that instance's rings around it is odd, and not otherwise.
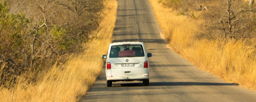
[[[143,42],[117,42],[109,45],[106,59],[107,86],[116,81],[142,81],[149,85],[148,57]]]

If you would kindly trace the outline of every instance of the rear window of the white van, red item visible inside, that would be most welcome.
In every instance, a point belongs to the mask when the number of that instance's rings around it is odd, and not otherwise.
[[[117,45],[110,49],[110,58],[115,57],[144,57],[142,45]]]

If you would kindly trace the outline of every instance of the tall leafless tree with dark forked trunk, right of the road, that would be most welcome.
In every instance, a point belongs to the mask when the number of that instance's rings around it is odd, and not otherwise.
[[[248,28],[248,16],[255,11],[252,8],[237,8],[238,5],[242,4],[242,1],[236,2],[236,0],[227,0],[227,10],[220,21],[224,36],[235,39],[236,37],[245,37],[241,31]]]

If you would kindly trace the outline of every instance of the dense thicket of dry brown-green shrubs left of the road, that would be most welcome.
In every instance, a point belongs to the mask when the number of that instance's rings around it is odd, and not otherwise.
[[[37,75],[81,53],[95,38],[103,0],[3,0],[0,20],[0,86]],[[7,64],[4,64],[7,63]],[[29,75],[29,76],[26,76]]]

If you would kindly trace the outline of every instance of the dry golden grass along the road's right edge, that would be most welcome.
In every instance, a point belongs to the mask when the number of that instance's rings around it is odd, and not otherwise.
[[[223,42],[198,40],[199,20],[177,16],[177,12],[164,8],[158,0],[149,0],[157,21],[172,49],[199,69],[211,72],[221,79],[256,90],[255,41]]]

